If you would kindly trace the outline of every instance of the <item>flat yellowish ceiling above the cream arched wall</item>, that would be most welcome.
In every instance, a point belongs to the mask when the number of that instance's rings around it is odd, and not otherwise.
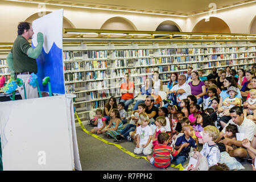
[[[8,1],[8,0],[7,0]],[[22,1],[22,0],[18,0]],[[24,0],[23,0],[24,1]],[[58,5],[73,5],[84,7],[96,7],[112,10],[140,11],[144,13],[193,15],[209,11],[210,3],[215,3],[217,9],[251,2],[238,0],[29,0],[33,2],[45,2]],[[255,3],[255,2],[254,2]]]

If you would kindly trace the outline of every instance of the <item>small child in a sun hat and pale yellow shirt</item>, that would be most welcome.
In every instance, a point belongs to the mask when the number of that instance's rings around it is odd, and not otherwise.
[[[241,106],[241,101],[236,95],[238,94],[237,88],[234,86],[229,86],[228,91],[226,92],[229,94],[229,97],[225,98],[225,100],[222,102],[222,108],[224,110],[230,109],[234,106]]]

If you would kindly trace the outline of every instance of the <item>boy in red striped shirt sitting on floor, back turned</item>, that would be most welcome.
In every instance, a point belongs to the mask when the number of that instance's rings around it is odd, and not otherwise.
[[[167,133],[159,133],[158,146],[154,147],[152,156],[148,155],[147,160],[155,167],[167,168],[171,165],[172,156],[176,156],[180,153],[185,143],[181,145],[179,150],[175,150],[171,146],[167,146],[169,143],[169,135]]]

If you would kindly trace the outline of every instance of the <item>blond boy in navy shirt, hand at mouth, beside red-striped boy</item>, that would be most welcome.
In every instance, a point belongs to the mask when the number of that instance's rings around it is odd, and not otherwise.
[[[185,145],[184,145],[184,148],[180,151],[180,154],[173,159],[173,162],[176,161],[176,164],[181,164],[181,165],[183,165],[184,162],[187,160],[188,153],[190,152],[191,147],[193,148],[194,151],[197,151],[196,141],[192,138],[193,127],[190,125],[184,125],[182,127],[182,131],[184,135],[177,138],[175,142],[175,149],[178,150],[182,146],[182,144],[185,144]]]

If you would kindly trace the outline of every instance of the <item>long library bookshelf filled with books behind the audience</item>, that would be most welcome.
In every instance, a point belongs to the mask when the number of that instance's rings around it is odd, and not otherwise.
[[[255,63],[255,38],[251,34],[64,28],[65,92],[76,94],[76,111],[81,120],[89,121],[89,112],[104,109],[111,96],[120,100],[125,73],[130,73],[138,93],[156,70],[167,84],[172,72],[186,73],[188,67],[203,69],[204,75],[213,67],[247,69]]]

